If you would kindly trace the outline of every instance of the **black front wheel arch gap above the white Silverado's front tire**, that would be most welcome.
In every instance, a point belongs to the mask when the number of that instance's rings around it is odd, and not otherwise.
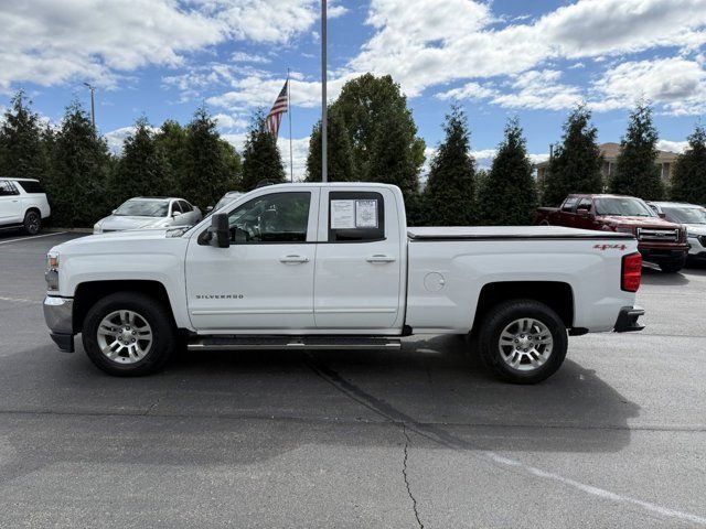
[[[159,281],[153,280],[107,280],[107,281],[86,281],[79,283],[76,287],[74,293],[74,314],[73,326],[74,332],[79,333],[83,327],[86,314],[97,301],[106,298],[107,295],[115,294],[117,292],[139,292],[145,295],[153,298],[162,305],[164,305],[171,316],[172,323],[176,326],[174,321],[174,313],[172,305],[167,293],[167,288]]]

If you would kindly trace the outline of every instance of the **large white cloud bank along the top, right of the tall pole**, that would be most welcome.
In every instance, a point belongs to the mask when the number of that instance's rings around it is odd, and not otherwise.
[[[578,0],[537,21],[501,30],[493,24],[491,6],[372,0],[367,21],[376,33],[349,66],[391,74],[414,97],[456,80],[516,76],[556,58],[599,58],[664,46],[695,50],[706,42],[703,0]],[[550,94],[548,107],[567,96],[573,97],[571,90],[560,87]],[[524,104],[522,99],[517,102]]]

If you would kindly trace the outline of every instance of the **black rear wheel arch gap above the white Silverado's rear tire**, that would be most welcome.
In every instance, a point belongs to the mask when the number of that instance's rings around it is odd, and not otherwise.
[[[472,330],[499,303],[512,299],[533,300],[554,310],[566,328],[574,326],[574,290],[563,281],[500,281],[484,284],[478,298]]]

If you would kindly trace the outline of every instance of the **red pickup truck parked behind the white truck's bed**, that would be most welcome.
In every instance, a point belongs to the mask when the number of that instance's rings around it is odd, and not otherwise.
[[[569,195],[560,207],[539,207],[537,224],[632,234],[643,259],[664,272],[678,272],[688,253],[684,227],[660,218],[633,196]]]

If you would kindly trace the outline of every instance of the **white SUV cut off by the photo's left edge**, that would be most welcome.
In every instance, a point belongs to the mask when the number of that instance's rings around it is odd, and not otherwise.
[[[22,228],[36,235],[51,213],[38,180],[0,179],[0,228]]]

